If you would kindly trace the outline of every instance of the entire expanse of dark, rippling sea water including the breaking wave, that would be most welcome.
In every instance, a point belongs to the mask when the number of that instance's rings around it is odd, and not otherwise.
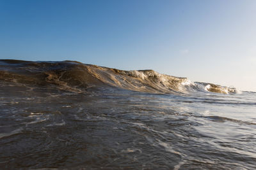
[[[256,93],[0,60],[0,169],[255,169]]]

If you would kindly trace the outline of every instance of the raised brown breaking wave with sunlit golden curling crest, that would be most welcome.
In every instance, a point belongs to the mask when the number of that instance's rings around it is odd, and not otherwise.
[[[55,86],[61,90],[84,92],[92,87],[117,87],[151,93],[190,92],[237,93],[235,88],[192,82],[154,70],[123,71],[76,61],[31,62],[0,60],[0,80],[25,85]]]

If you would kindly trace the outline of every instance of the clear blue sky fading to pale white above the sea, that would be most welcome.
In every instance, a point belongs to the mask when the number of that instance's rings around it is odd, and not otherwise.
[[[0,59],[154,69],[256,92],[254,0],[0,0]]]

